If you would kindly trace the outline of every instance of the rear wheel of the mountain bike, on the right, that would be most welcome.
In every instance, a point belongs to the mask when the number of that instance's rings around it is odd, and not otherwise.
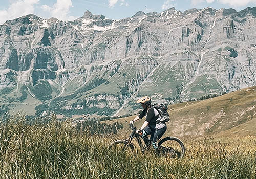
[[[169,154],[170,158],[183,158],[185,155],[184,143],[176,137],[166,137],[158,143],[159,152],[166,155]]]

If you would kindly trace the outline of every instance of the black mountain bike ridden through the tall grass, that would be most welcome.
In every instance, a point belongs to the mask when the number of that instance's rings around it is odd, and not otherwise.
[[[152,148],[150,139],[146,136],[142,136],[142,133],[136,133],[137,128],[133,124],[130,125],[130,128],[132,132],[129,139],[116,140],[110,144],[109,148],[116,148],[121,151],[134,151],[135,145],[131,141],[135,138],[142,152],[150,150],[150,148]],[[167,156],[168,158],[183,158],[185,154],[185,146],[183,142],[176,137],[165,137],[160,140],[156,146],[157,149],[154,151],[157,154]]]

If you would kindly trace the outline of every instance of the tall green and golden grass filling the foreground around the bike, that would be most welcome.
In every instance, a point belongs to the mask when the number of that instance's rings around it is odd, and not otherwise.
[[[115,137],[54,116],[47,124],[14,116],[0,125],[0,178],[256,178],[252,137],[187,138],[182,160],[110,150]]]

